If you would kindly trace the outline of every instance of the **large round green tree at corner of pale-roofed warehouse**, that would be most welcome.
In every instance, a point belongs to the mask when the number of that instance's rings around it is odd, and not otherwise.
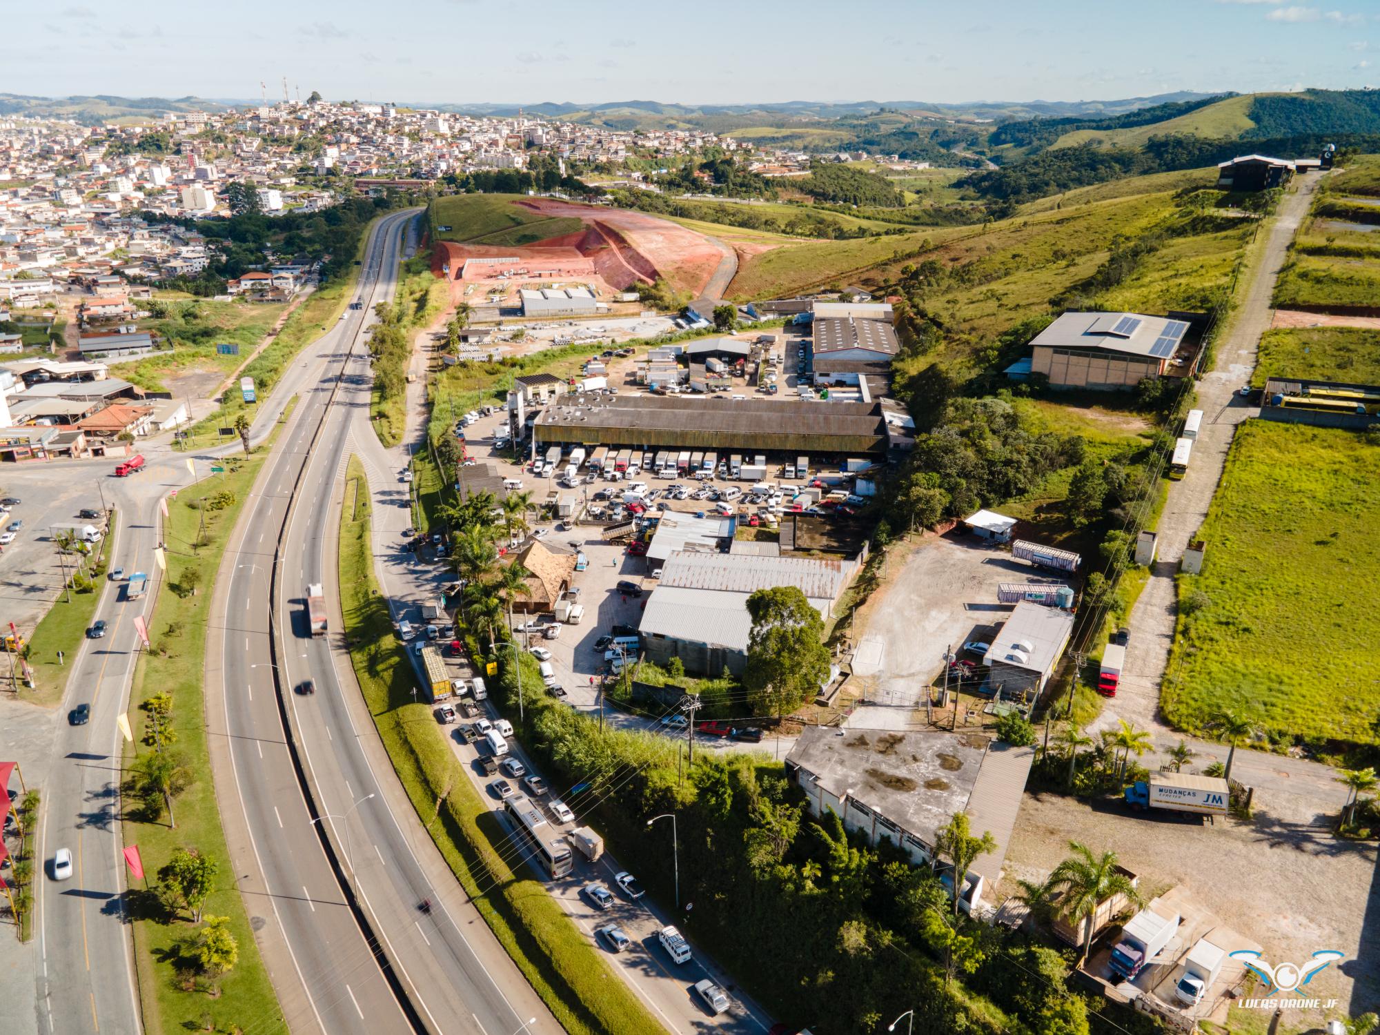
[[[759,715],[789,713],[829,678],[824,621],[796,586],[758,589],[748,598],[748,702]]]

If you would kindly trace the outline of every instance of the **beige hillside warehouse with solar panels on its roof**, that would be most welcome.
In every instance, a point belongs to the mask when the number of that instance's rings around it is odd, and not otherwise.
[[[1031,342],[1031,373],[1052,388],[1133,389],[1147,377],[1185,377],[1198,344],[1188,320],[1140,313],[1064,313]]]

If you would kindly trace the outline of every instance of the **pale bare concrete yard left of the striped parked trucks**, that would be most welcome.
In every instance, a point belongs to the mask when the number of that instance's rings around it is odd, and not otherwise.
[[[996,600],[998,584],[1045,575],[962,527],[891,549],[887,564],[898,569],[853,618],[853,679],[874,704],[915,707],[943,673],[945,650],[981,661],[962,649],[973,640],[989,643],[1010,614],[1012,606]],[[900,549],[909,552],[897,558]]]

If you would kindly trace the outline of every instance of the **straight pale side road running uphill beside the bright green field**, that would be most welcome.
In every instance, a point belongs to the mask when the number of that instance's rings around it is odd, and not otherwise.
[[[1299,189],[1281,203],[1235,323],[1217,345],[1213,368],[1198,384],[1198,408],[1203,411],[1203,424],[1194,442],[1194,462],[1188,475],[1172,483],[1169,490],[1169,502],[1156,530],[1158,560],[1130,614],[1126,671],[1116,697],[1107,701],[1101,716],[1089,727],[1096,734],[1115,729],[1118,719],[1126,719],[1151,731],[1156,752],[1185,740],[1198,752],[1195,766],[1205,766],[1213,759],[1225,762],[1227,749],[1221,744],[1183,737],[1159,713],[1159,694],[1179,614],[1174,575],[1184,549],[1208,518],[1236,425],[1257,413],[1236,395],[1236,389],[1250,379],[1256,367],[1260,335],[1270,328],[1274,317],[1271,298],[1279,268],[1318,182],[1318,177],[1300,179]],[[1147,756],[1147,762],[1154,766],[1154,756]],[[1238,751],[1234,776],[1264,792],[1257,798],[1264,810],[1274,816],[1292,814],[1296,821],[1317,820],[1336,811],[1346,800],[1346,791],[1333,782],[1332,769],[1317,762]]]

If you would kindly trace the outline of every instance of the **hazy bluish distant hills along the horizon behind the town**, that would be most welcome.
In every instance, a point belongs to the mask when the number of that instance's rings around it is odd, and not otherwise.
[[[408,108],[433,108],[457,115],[512,116],[519,110],[545,119],[569,119],[571,121],[607,124],[620,128],[627,123],[639,123],[638,128],[687,126],[702,119],[729,120],[748,119],[758,124],[778,124],[796,120],[835,120],[864,116],[878,109],[905,112],[916,116],[943,119],[1035,119],[1070,116],[1112,116],[1134,112],[1140,108],[1173,101],[1192,101],[1208,94],[1180,91],[1156,94],[1155,97],[1132,97],[1119,101],[1006,101],[972,103],[934,103],[929,101],[788,101],[784,103],[741,103],[741,105],[682,105],[660,101],[610,101],[596,105],[569,102],[542,102],[535,105],[516,103],[408,103]],[[150,117],[170,112],[222,112],[228,108],[258,105],[255,99],[210,99],[203,97],[117,97],[112,94],[73,97],[29,97],[23,94],[0,94],[0,115],[51,116],[76,119],[86,124],[99,124],[110,119]],[[748,123],[744,123],[748,124]]]

